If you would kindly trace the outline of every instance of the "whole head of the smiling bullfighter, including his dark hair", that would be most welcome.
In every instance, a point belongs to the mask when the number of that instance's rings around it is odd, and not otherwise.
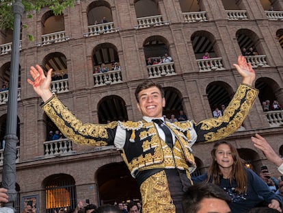
[[[161,85],[151,81],[139,84],[135,90],[137,108],[143,116],[160,118],[165,107],[164,90]]]

